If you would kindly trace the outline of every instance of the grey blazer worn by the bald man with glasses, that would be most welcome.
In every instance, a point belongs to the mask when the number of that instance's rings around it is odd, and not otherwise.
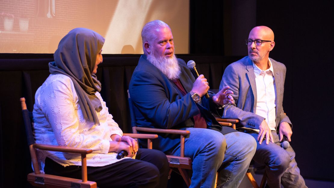
[[[274,84],[276,88],[276,130],[281,122],[287,122],[292,126],[290,119],[283,111],[283,93],[286,67],[283,63],[270,58],[274,69]],[[224,86],[230,86],[234,92],[234,104],[225,105],[223,118],[239,119],[241,126],[259,129],[265,119],[255,113],[257,103],[256,82],[253,62],[248,56],[231,63],[224,71],[219,90]],[[240,126],[240,125],[239,125]]]

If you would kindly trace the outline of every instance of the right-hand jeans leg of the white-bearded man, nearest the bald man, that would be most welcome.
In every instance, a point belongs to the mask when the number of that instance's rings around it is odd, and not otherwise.
[[[218,188],[239,187],[256,151],[256,140],[241,132],[224,135],[227,149],[218,172]]]

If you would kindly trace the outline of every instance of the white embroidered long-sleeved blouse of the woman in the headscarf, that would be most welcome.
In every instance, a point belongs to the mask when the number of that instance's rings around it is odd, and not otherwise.
[[[87,166],[106,166],[119,161],[116,153],[108,153],[109,141],[112,141],[111,135],[122,136],[123,132],[109,114],[100,93],[95,95],[103,107],[97,112],[100,125],[94,125],[89,130],[81,129],[84,124],[94,123],[83,118],[72,80],[66,75],[50,74],[35,95],[33,118],[36,143],[90,148],[93,153],[87,155]],[[42,171],[46,157],[62,166],[81,166],[80,154],[37,150],[37,155]]]

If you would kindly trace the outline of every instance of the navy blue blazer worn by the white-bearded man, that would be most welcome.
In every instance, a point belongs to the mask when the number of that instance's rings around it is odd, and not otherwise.
[[[230,127],[223,127],[215,120],[213,113],[222,115],[222,110],[216,110],[212,101],[214,93],[209,92],[210,98],[202,97],[196,104],[189,93],[195,77],[182,59],[178,59],[181,67],[180,82],[188,92],[185,96],[175,83],[169,80],[157,67],[142,55],[135,68],[129,86],[131,99],[134,103],[134,112],[138,127],[180,129],[194,127],[193,116],[200,112],[204,116],[208,128],[222,134],[235,131]],[[199,112],[200,111],[200,112]],[[180,142],[180,136],[174,134],[158,134],[153,148],[167,151]],[[145,142],[141,142],[145,145]]]

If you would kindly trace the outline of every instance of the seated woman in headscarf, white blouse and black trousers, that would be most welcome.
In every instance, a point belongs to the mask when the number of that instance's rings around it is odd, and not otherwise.
[[[123,136],[101,98],[95,73],[104,41],[86,28],[75,28],[60,40],[49,63],[50,75],[35,95],[36,143],[92,149],[87,155],[88,180],[100,188],[166,187],[165,154],[138,149],[134,139]],[[127,157],[117,159],[123,150]],[[81,177],[79,154],[38,150],[38,158],[47,174]]]

